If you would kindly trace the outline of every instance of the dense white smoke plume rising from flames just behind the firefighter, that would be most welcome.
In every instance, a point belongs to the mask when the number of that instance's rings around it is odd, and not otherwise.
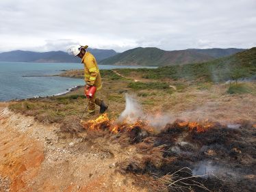
[[[125,110],[120,114],[118,122],[125,121],[132,124],[138,120],[149,122],[149,125],[155,128],[161,128],[167,123],[173,122],[170,115],[162,113],[144,113],[141,105],[136,101],[136,99],[129,94],[125,94]]]

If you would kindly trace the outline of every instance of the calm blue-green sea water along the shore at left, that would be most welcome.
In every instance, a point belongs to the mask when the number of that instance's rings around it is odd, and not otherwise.
[[[75,86],[84,85],[84,79],[24,76],[60,74],[62,70],[82,68],[84,68],[83,64],[0,62],[0,101],[63,94]],[[140,67],[99,65],[99,68]]]

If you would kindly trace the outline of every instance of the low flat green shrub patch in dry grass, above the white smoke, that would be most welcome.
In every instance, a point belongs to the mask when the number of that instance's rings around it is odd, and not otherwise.
[[[170,88],[167,83],[162,82],[151,82],[151,83],[142,83],[142,82],[131,82],[128,84],[133,90],[163,90]]]

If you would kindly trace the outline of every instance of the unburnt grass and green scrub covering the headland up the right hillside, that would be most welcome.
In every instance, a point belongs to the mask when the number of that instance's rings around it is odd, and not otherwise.
[[[99,97],[110,104],[108,109],[110,118],[117,118],[125,108],[124,93],[126,92],[136,94],[145,110],[152,111],[154,107],[155,111],[163,110],[170,113],[194,110],[199,103],[205,103],[207,106],[207,103],[212,102],[212,100],[220,103],[218,106],[225,107],[227,102],[222,100],[223,94],[227,96],[233,94],[233,96],[230,96],[233,101],[229,102],[227,110],[222,109],[220,112],[216,109],[216,112],[212,112],[211,109],[210,111],[211,118],[217,112],[222,113],[222,115],[216,115],[218,120],[220,120],[220,117],[227,118],[226,115],[233,118],[237,113],[232,112],[232,107],[235,107],[233,111],[236,109],[244,111],[244,107],[246,107],[243,103],[238,102],[240,100],[238,94],[244,94],[248,102],[254,103],[254,100],[251,100],[251,95],[256,94],[255,83],[246,81],[241,83],[240,79],[252,78],[256,75],[255,55],[256,48],[253,48],[231,57],[203,64],[168,66],[155,69],[114,70],[122,74],[123,77],[113,70],[101,70],[104,84]],[[83,73],[83,70],[72,70],[64,72],[62,76],[84,78]],[[137,79],[137,81],[131,79]],[[231,82],[230,86],[221,83],[226,80],[238,81],[238,83]],[[248,95],[246,96],[246,94]],[[10,109],[25,115],[32,115],[40,122],[52,123],[62,122],[71,116],[79,117],[86,104],[84,88],[81,87],[79,90],[64,96],[12,102]],[[251,109],[251,111],[253,110]],[[203,115],[207,115],[207,112],[201,114],[201,117]],[[86,116],[86,118],[89,117]]]

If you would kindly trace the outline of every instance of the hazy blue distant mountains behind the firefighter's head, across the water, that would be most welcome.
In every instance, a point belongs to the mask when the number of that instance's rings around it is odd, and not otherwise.
[[[96,57],[97,61],[114,56],[118,53],[110,49],[88,49],[90,53]],[[68,55],[64,51],[34,52],[34,51],[9,51],[0,53],[0,61],[10,62],[42,62],[42,63],[78,63],[81,61],[79,57]]]

